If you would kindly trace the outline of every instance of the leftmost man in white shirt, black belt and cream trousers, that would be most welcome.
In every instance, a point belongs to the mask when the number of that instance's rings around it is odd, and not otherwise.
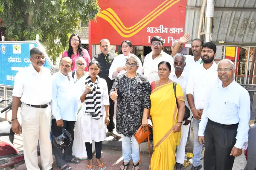
[[[52,99],[51,73],[43,67],[45,52],[39,47],[30,50],[32,65],[20,70],[15,77],[12,101],[12,130],[20,134],[17,111],[21,105],[21,121],[24,159],[27,170],[40,170],[38,167],[38,140],[42,170],[52,168],[52,144],[50,140]]]

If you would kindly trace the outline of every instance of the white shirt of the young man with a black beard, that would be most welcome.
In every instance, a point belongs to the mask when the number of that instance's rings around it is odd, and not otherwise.
[[[217,68],[218,65],[213,62],[212,66],[207,70],[204,68],[204,64],[200,64],[190,71],[186,94],[193,95],[197,110],[204,108],[204,102],[208,97],[209,90],[219,82]]]

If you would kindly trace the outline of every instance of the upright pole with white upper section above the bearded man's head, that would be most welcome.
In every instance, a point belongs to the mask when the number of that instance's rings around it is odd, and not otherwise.
[[[213,15],[214,15],[214,0],[207,0],[206,31],[205,31],[205,39],[204,39],[205,42],[211,41]]]

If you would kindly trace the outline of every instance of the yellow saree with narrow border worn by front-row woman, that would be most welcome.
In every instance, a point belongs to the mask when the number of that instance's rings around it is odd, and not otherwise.
[[[176,86],[177,99],[184,101],[182,89]],[[153,123],[154,152],[151,158],[151,170],[174,170],[175,150],[180,144],[180,132],[173,133],[178,119],[173,84],[155,88],[150,95],[150,115]]]

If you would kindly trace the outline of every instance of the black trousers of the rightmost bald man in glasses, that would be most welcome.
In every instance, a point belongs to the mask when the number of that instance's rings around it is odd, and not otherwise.
[[[232,170],[235,157],[230,156],[236,144],[238,124],[223,125],[211,121],[207,122],[205,129],[205,170]]]

